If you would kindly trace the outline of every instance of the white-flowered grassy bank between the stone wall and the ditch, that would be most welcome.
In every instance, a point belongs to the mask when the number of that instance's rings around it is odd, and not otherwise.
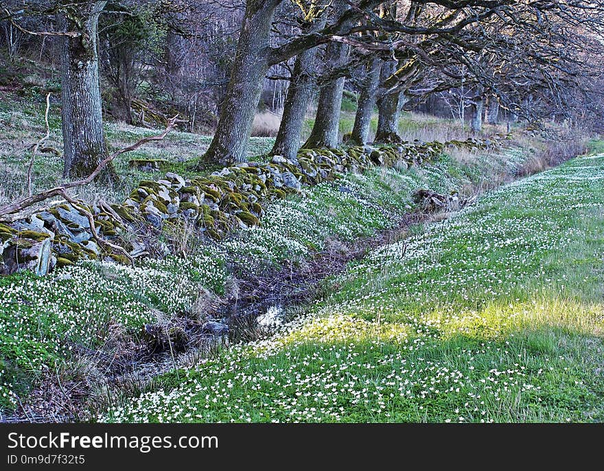
[[[63,383],[82,374],[95,376],[90,372],[95,365],[79,361],[82,354],[97,348],[111,352],[124,335],[137,337],[143,324],[187,313],[202,287],[221,293],[228,260],[240,267],[245,261],[251,270],[266,261],[302,261],[323,250],[327,238],[353,240],[395,224],[410,207],[413,189],[447,193],[479,185],[493,172],[513,171],[525,157],[507,152],[475,156],[472,164],[461,165],[444,156],[417,170],[351,174],[308,189],[304,197],[270,204],[262,227],[237,232],[218,245],[189,240],[198,250],[187,260],[137,268],[90,262],[45,278],[0,278],[0,404],[12,407],[24,400],[32,384],[56,370],[64,372]]]

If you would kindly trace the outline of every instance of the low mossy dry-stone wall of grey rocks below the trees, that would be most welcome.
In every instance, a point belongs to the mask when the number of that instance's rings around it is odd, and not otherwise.
[[[176,173],[166,173],[156,182],[140,182],[123,204],[56,204],[27,219],[0,224],[0,270],[12,274],[28,269],[41,276],[80,258],[102,257],[128,263],[123,254],[108,252],[96,243],[86,211],[93,215],[100,237],[137,257],[147,253],[146,236],[161,232],[168,223],[186,221],[205,237],[221,239],[235,228],[259,224],[268,202],[299,193],[303,186],[334,180],[347,171],[363,171],[373,165],[421,165],[437,158],[449,145],[482,149],[498,143],[499,139],[469,139],[301,149],[296,160],[274,156],[267,163],[243,162],[186,180]]]

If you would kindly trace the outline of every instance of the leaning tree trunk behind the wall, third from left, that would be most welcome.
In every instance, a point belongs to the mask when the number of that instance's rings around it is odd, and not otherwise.
[[[325,26],[325,17],[321,21],[314,21],[310,27],[305,28],[306,33],[317,32]],[[317,48],[307,49],[299,53],[294,64],[292,81],[288,88],[281,125],[275,145],[270,154],[281,155],[294,159],[300,148],[300,134],[308,104],[315,88],[314,69]]]

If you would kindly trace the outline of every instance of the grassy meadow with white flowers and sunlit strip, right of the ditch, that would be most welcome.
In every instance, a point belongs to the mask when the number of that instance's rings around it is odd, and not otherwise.
[[[101,419],[604,420],[603,195],[602,155],[509,184]]]

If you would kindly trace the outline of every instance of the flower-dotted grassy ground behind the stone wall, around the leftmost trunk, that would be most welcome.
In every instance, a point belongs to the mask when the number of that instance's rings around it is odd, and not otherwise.
[[[42,95],[19,97],[6,93],[0,97],[0,205],[18,197],[25,196],[27,191],[27,166],[32,157],[30,147],[45,135],[45,99]],[[62,135],[60,128],[59,105],[56,98],[49,114],[51,130],[47,147],[54,147],[62,152]],[[131,145],[143,136],[160,134],[161,130],[149,130],[128,126],[123,123],[106,123],[106,137],[110,151]],[[91,184],[80,191],[77,196],[89,201],[102,195],[109,202],[122,202],[132,188],[141,180],[158,180],[165,172],[174,171],[182,176],[193,174],[187,166],[201,156],[209,147],[211,136],[201,136],[188,132],[172,132],[164,141],[147,144],[135,152],[123,154],[114,160],[115,169],[120,181],[111,187],[103,184]],[[274,138],[253,137],[250,139],[248,156],[253,158],[268,152]],[[167,165],[162,171],[139,171],[128,166],[130,159],[161,159]],[[55,186],[62,182],[63,162],[60,156],[51,153],[38,154],[34,161],[33,190]],[[209,169],[213,170],[213,169]]]

